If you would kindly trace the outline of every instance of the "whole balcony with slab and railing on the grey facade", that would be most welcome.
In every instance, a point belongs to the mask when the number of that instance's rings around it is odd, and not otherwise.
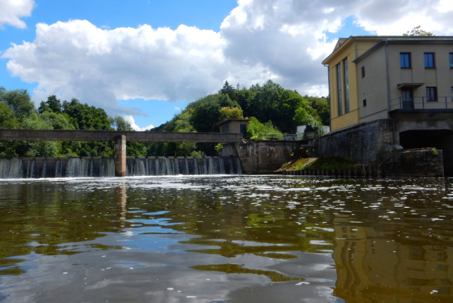
[[[453,97],[398,97],[390,101],[389,113],[396,114],[404,112],[453,112]]]

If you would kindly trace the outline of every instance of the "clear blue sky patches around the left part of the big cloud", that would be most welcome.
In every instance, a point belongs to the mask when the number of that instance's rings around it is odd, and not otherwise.
[[[52,24],[70,19],[88,20],[98,27],[109,28],[133,27],[149,24],[153,28],[178,28],[180,24],[197,26],[197,28],[219,31],[220,23],[228,13],[236,7],[235,0],[132,0],[132,1],[36,1],[32,15],[22,20],[28,28],[20,29],[5,26],[0,30],[0,51],[6,50],[11,43],[21,44],[23,40],[31,42],[36,37],[36,23]],[[11,77],[6,70],[6,59],[1,59],[0,86],[6,89],[28,89],[33,92],[37,83],[21,81],[19,77]],[[202,96],[200,96],[202,97]],[[83,100],[82,100],[83,101]],[[147,116],[136,116],[136,124],[140,127],[153,124],[159,126],[178,114],[175,107],[182,109],[187,102],[167,102],[165,100],[130,99],[120,100],[122,106],[134,106],[142,109]],[[150,116],[152,114],[152,117]]]

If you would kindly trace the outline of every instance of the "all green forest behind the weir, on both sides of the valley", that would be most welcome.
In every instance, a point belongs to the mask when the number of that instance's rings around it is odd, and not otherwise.
[[[151,131],[217,132],[217,123],[227,118],[249,118],[248,136],[257,133],[295,133],[296,126],[329,123],[328,97],[302,97],[269,80],[266,84],[240,89],[225,82],[217,94],[188,104],[170,121]],[[25,89],[0,87],[0,128],[85,129],[132,131],[121,116],[109,117],[104,109],[77,99],[60,101],[55,95],[36,109]],[[94,156],[111,157],[111,142],[0,141],[0,157]],[[127,143],[128,156],[215,155],[207,143]]]

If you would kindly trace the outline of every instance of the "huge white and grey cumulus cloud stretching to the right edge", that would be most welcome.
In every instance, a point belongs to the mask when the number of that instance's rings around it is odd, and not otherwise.
[[[239,0],[219,32],[170,28],[99,28],[89,21],[39,23],[36,39],[2,57],[13,76],[38,82],[34,99],[50,94],[102,106],[109,114],[143,114],[119,99],[193,101],[225,80],[249,87],[268,79],[302,94],[327,94],[321,61],[328,39],[351,17],[379,35],[421,25],[453,33],[450,0]]]

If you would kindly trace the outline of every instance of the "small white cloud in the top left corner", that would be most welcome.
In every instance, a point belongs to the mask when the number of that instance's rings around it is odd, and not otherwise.
[[[31,16],[34,0],[0,0],[0,28],[5,24],[16,28],[27,28],[22,17]]]

